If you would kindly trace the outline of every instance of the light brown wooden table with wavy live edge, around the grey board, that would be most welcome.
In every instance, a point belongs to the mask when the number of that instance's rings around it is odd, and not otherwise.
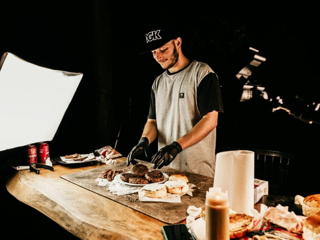
[[[81,239],[164,239],[166,223],[60,178],[101,166],[55,165],[53,172],[41,168],[39,175],[20,170],[7,177],[6,188]]]

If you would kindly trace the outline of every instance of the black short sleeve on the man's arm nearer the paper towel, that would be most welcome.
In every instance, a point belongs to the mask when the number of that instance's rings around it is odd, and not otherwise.
[[[220,84],[215,73],[208,73],[197,89],[197,103],[201,117],[213,110],[223,112]]]

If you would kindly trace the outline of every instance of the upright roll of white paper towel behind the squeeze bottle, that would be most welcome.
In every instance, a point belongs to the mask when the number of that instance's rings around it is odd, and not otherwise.
[[[228,191],[230,208],[252,215],[254,205],[254,152],[237,150],[217,154],[213,187]]]

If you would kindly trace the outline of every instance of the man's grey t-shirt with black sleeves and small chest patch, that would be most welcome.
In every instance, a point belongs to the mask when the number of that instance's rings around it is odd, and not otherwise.
[[[189,132],[213,110],[223,112],[217,75],[203,62],[156,77],[150,99],[150,119],[156,119],[158,148]],[[169,165],[172,168],[214,177],[216,129],[203,140],[184,149]]]

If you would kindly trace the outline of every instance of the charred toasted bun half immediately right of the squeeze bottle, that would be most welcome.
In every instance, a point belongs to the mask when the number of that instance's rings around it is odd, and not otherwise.
[[[230,238],[239,238],[247,234],[253,227],[253,217],[246,214],[230,216]]]

